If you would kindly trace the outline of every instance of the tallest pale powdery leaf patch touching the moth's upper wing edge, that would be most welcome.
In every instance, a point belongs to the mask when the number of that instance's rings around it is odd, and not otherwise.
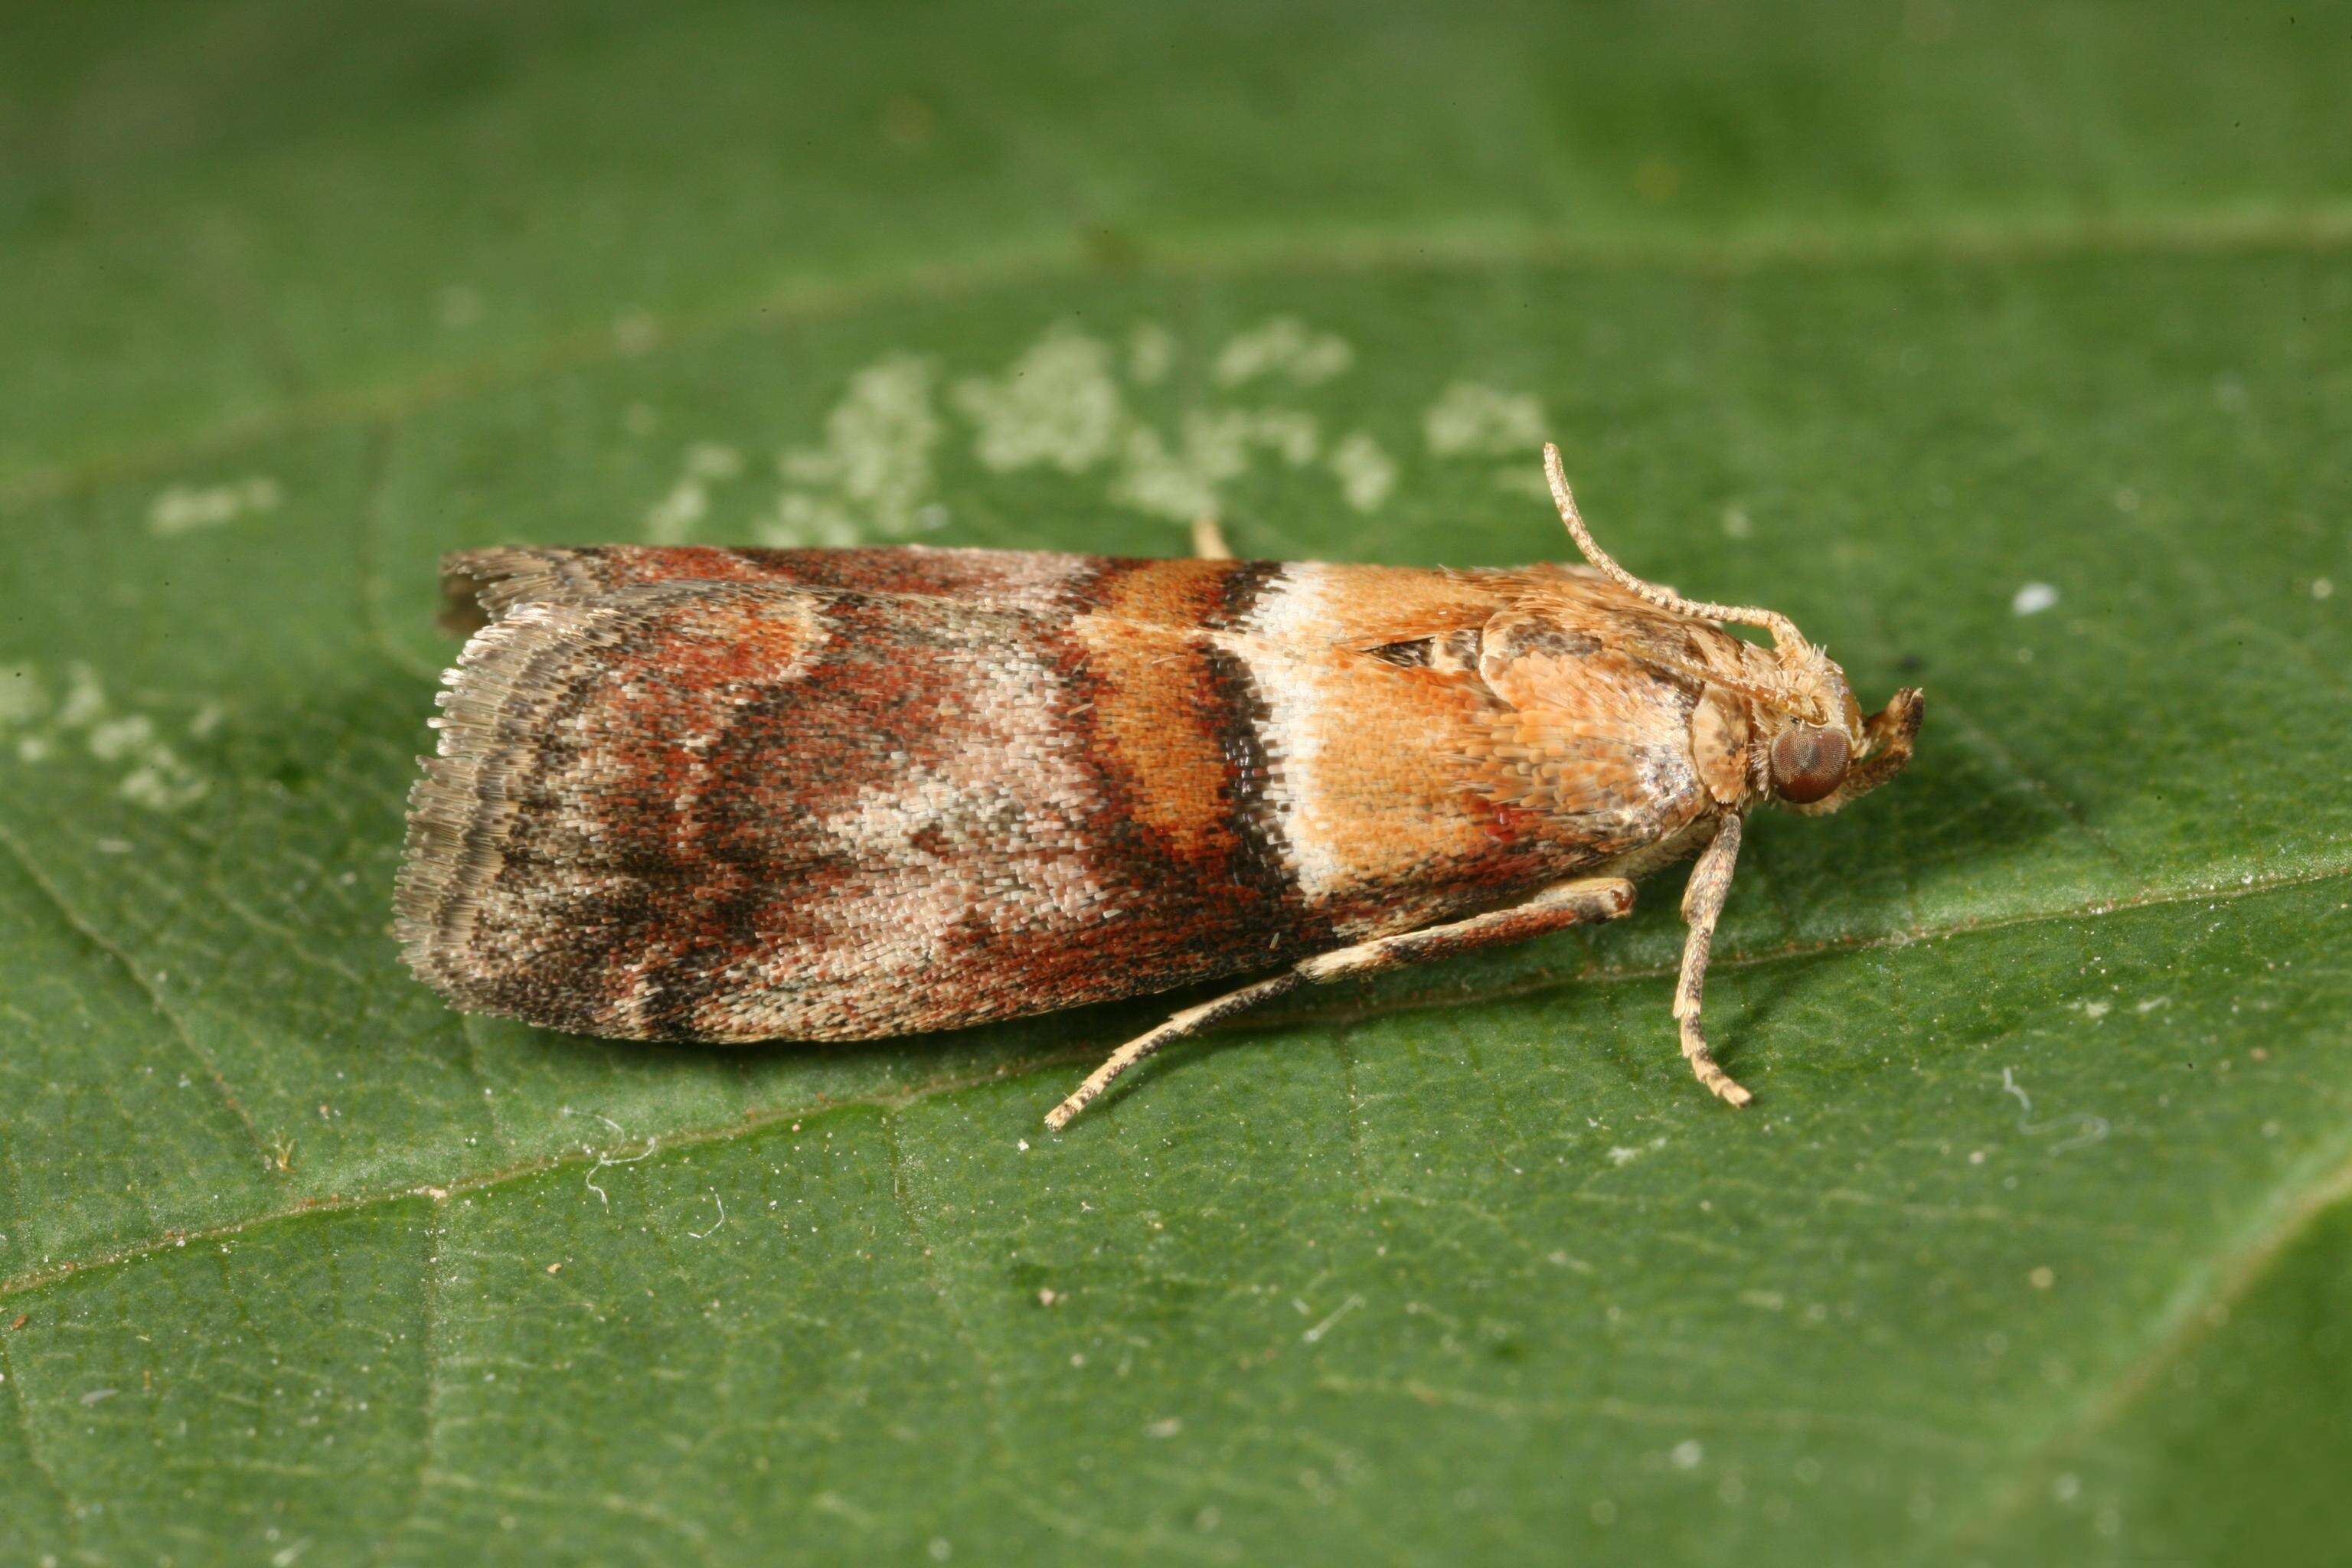
[[[826,414],[826,444],[776,458],[788,489],[755,529],[760,543],[854,545],[868,534],[908,538],[943,522],[927,505],[941,437],[934,378],[917,355],[889,355],[854,374]]]

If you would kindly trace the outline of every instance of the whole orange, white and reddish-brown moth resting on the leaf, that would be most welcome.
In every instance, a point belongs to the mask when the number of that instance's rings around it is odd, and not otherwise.
[[[875,1039],[1263,976],[1301,985],[1618,919],[1698,856],[1682,1056],[1759,804],[1910,762],[1776,611],[1618,567],[1021,550],[468,550],[395,936],[454,1006],[621,1039]],[[1771,646],[1736,637],[1750,625]]]

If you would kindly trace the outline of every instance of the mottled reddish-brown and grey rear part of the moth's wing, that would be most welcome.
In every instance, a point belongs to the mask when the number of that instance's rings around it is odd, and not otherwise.
[[[1178,668],[1190,698],[1141,686],[1207,736]],[[555,1027],[854,1039],[1324,936],[1235,875],[1247,835],[1167,830],[1171,778],[1105,762],[1105,696],[1131,693],[1035,607],[708,578],[527,602],[468,651],[402,940],[461,1004]]]

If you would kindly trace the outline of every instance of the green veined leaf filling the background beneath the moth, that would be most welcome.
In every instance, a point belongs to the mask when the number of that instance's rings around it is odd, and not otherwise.
[[[75,7],[0,59],[0,1559],[2321,1561],[2326,7]],[[492,541],[1564,555],[1912,771],[1037,1117],[447,1013]]]

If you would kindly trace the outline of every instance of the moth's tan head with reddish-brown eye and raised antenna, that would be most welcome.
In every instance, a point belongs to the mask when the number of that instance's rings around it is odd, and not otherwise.
[[[1543,477],[1550,480],[1559,520],[1569,524],[1576,548],[1606,578],[1682,616],[1736,621],[1771,632],[1771,649],[1740,644],[1738,675],[1710,672],[1748,698],[1750,799],[1771,799],[1792,811],[1820,816],[1877,790],[1903,771],[1912,755],[1912,738],[1919,733],[1919,719],[1926,715],[1926,698],[1915,686],[1896,691],[1886,708],[1863,717],[1863,708],[1846,684],[1846,672],[1809,642],[1795,621],[1780,611],[1745,604],[1703,604],[1684,599],[1672,588],[1644,583],[1592,541],[1559,468],[1559,447],[1543,447]]]

